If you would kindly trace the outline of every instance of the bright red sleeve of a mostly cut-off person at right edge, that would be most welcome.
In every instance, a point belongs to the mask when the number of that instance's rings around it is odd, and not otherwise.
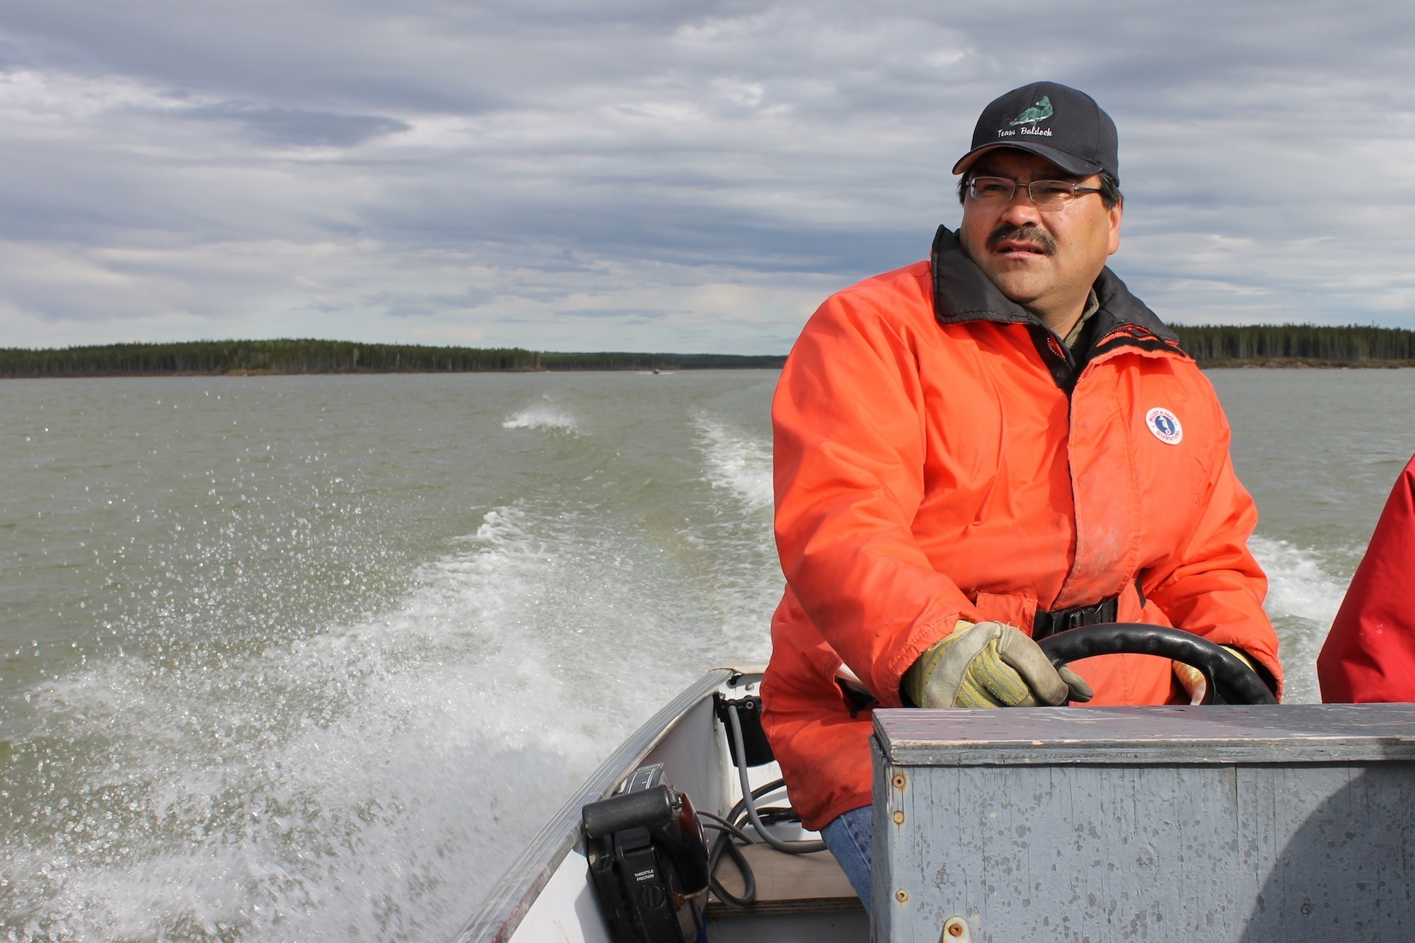
[[[1327,704],[1415,701],[1415,459],[1401,473],[1322,654]]]

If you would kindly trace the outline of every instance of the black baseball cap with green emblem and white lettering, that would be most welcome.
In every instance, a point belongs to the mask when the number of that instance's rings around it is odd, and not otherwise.
[[[1080,177],[1102,170],[1121,177],[1115,122],[1094,98],[1057,82],[1015,88],[982,109],[972,150],[954,164],[954,173],[964,173],[979,154],[999,147],[1046,157]]]

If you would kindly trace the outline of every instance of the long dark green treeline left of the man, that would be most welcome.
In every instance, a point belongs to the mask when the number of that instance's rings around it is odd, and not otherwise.
[[[780,367],[784,357],[730,354],[556,354],[533,350],[355,344],[325,340],[102,344],[0,348],[0,377],[164,374],[432,374],[531,370],[710,370]]]

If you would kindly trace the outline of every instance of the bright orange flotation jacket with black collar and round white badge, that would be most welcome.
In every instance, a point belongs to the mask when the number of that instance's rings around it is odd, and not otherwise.
[[[870,714],[852,716],[836,668],[899,707],[900,675],[959,616],[1030,631],[1039,606],[1118,595],[1118,622],[1240,646],[1281,680],[1218,398],[1109,269],[1095,290],[1075,378],[940,228],[931,263],[832,296],[792,348],[771,412],[787,590],[763,721],[807,827],[870,803]],[[1187,701],[1166,660],[1073,667],[1097,705]]]

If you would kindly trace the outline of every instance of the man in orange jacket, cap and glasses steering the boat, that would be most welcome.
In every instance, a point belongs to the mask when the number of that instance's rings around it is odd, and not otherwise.
[[[787,590],[763,719],[866,905],[870,707],[1191,699],[1169,661],[1057,671],[1032,640],[1097,622],[1177,626],[1282,677],[1218,399],[1105,268],[1115,125],[1029,85],[954,173],[958,232],[828,299],[773,402]]]

